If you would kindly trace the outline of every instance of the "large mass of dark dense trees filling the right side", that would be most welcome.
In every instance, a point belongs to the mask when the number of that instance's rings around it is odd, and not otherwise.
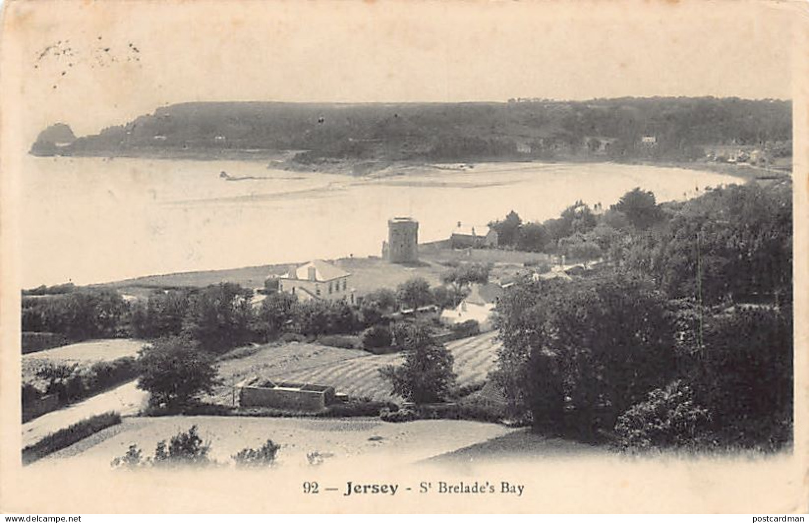
[[[570,282],[526,279],[502,298],[493,378],[515,414],[625,446],[785,445],[790,202],[786,183],[662,206],[635,189],[595,223],[569,220],[557,247],[591,242],[610,264]]]

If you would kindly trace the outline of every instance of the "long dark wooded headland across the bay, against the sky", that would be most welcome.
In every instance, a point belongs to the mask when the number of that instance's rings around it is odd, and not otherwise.
[[[66,129],[63,129],[66,128]],[[716,98],[509,103],[179,103],[96,135],[45,129],[32,154],[336,160],[702,158],[707,144],[791,140],[791,103]],[[58,133],[57,137],[54,137]],[[70,137],[70,140],[67,138]],[[58,140],[57,140],[58,138]],[[68,143],[69,142],[69,143]]]

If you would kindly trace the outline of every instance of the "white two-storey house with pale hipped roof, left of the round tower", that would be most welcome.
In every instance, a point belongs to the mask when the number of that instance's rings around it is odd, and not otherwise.
[[[354,303],[351,274],[316,259],[290,270],[278,278],[278,291],[292,293],[299,300],[342,300]]]

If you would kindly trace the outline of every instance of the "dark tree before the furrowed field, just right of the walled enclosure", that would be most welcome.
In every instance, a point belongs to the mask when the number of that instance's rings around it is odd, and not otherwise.
[[[391,382],[393,393],[414,403],[445,399],[455,386],[452,353],[434,340],[430,327],[410,325],[400,337],[397,341],[407,351],[404,363],[379,370]]]

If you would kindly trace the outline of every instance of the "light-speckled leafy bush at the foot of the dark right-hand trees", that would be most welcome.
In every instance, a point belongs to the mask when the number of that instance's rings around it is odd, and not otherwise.
[[[616,442],[623,449],[698,445],[705,441],[709,423],[709,412],[694,401],[691,387],[677,380],[652,390],[649,399],[618,418]]]

